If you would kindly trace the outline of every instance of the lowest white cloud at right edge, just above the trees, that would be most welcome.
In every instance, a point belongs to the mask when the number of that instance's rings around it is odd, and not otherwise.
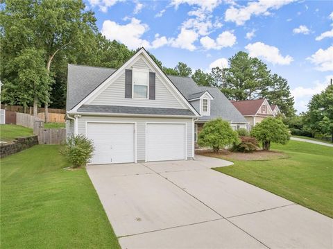
[[[291,89],[291,95],[295,99],[295,108],[298,112],[305,112],[307,110],[307,104],[311,96],[321,93],[330,83],[331,78],[333,78],[333,75],[326,76],[323,82],[316,80],[312,87],[296,87]]]

